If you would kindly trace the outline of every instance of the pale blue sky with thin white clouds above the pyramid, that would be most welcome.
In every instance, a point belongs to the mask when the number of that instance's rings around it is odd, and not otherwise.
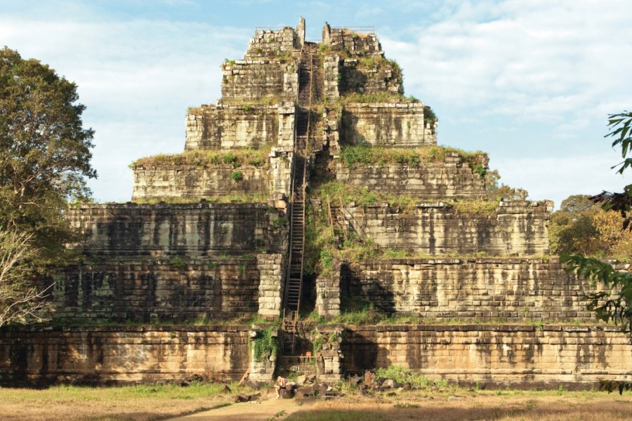
[[[603,138],[632,109],[632,2],[0,0],[0,46],[79,86],[96,130],[99,201],[127,201],[128,165],[181,152],[187,107],[220,96],[219,65],[256,25],[376,25],[407,95],[435,109],[441,145],[480,149],[531,199],[621,190]]]

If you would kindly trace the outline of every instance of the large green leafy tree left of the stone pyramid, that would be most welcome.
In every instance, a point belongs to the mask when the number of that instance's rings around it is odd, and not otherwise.
[[[77,86],[38,60],[0,50],[0,227],[32,234],[43,263],[70,239],[70,199],[90,191],[93,130],[82,126]]]

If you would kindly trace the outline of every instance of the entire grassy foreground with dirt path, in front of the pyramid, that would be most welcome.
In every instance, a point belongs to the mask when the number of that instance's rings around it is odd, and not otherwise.
[[[632,420],[632,393],[466,391],[349,395],[334,401],[233,403],[200,387],[0,389],[0,420]],[[152,392],[153,391],[153,392]],[[235,389],[233,389],[235,392]],[[244,392],[244,391],[242,391]],[[195,411],[195,413],[194,413]],[[188,417],[185,415],[191,414]]]

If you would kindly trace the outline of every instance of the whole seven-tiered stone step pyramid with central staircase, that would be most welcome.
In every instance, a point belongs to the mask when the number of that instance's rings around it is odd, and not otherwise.
[[[548,256],[553,203],[493,202],[487,156],[437,145],[372,31],[258,29],[222,69],[222,98],[187,112],[185,152],[133,163],[133,203],[70,210],[83,260],[44,280],[55,327],[0,331],[0,385],[390,364],[489,385],[632,379],[625,335],[577,326],[592,287]],[[377,258],[343,258],[369,246]],[[421,324],[298,329],[301,310],[367,305]],[[99,326],[121,321],[151,324]],[[264,336],[278,349],[255,354]]]

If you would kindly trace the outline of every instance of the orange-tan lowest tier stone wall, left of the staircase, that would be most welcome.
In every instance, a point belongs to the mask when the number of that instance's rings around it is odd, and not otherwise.
[[[248,363],[248,326],[0,330],[1,386],[235,380]]]

